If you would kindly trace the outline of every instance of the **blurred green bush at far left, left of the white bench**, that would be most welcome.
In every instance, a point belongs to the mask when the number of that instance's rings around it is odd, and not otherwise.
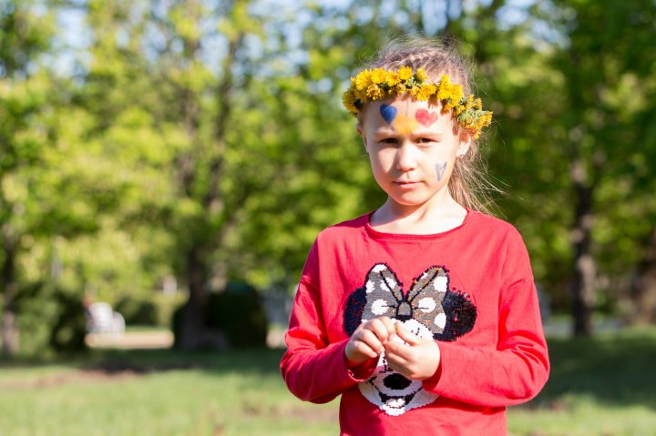
[[[30,284],[15,299],[23,355],[85,350],[87,319],[82,299],[56,284]]]

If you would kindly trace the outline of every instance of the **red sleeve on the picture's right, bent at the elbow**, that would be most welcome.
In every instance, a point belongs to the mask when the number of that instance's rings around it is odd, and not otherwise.
[[[496,350],[439,342],[442,360],[424,388],[457,401],[503,407],[535,397],[548,379],[547,343],[528,253],[510,238],[502,267]]]

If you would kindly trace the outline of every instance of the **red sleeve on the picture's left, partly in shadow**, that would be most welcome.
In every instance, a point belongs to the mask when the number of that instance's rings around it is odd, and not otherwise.
[[[303,401],[323,403],[332,401],[365,380],[375,365],[349,370],[344,358],[348,340],[329,343],[322,316],[322,299],[318,287],[313,285],[314,280],[318,282],[316,265],[315,243],[294,299],[281,371],[287,387],[295,396]]]

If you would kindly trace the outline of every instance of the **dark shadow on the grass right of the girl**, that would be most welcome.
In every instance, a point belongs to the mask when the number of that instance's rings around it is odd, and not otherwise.
[[[656,410],[655,328],[548,342],[551,374],[532,407],[555,407],[568,395],[585,395],[608,405]]]

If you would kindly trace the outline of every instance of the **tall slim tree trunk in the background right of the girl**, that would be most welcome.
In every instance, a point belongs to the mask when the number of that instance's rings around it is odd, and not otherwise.
[[[596,303],[595,279],[597,276],[597,266],[591,251],[594,189],[589,184],[585,163],[581,157],[572,162],[570,175],[576,196],[574,228],[572,228],[574,248],[573,333],[575,336],[589,336],[592,334],[591,315]]]

